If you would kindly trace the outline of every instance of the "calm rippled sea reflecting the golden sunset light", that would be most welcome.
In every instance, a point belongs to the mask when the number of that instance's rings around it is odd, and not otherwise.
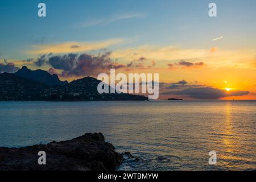
[[[119,170],[256,169],[255,101],[0,102],[0,146],[94,132],[139,158]]]

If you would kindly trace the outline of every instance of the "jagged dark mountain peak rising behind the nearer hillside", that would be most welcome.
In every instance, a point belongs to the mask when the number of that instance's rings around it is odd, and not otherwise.
[[[47,71],[43,71],[41,69],[32,71],[27,67],[22,67],[22,69],[19,69],[16,73],[14,73],[14,75],[49,86],[64,85],[68,83],[67,81],[60,81],[57,75],[51,75]]]

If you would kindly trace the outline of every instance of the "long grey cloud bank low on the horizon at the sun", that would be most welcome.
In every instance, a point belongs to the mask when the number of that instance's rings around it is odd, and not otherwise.
[[[184,90],[171,91],[171,92],[166,92],[164,94],[186,95],[199,100],[217,100],[221,97],[245,96],[249,93],[250,92],[248,91],[240,91],[240,90],[232,90],[230,92],[227,92],[226,90],[221,90],[221,89],[207,86],[207,87],[201,87],[201,88],[188,88]]]

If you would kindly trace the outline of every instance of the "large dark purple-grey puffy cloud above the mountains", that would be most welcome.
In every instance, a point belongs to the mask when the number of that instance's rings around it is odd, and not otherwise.
[[[119,64],[110,59],[110,52],[98,54],[96,56],[86,53],[75,54],[69,53],[61,56],[51,56],[45,60],[43,56],[43,63],[51,65],[48,70],[51,74],[57,74],[60,77],[81,77],[81,76],[97,76],[99,73],[109,73],[110,69],[125,68],[125,64]],[[41,56],[42,57],[42,56]],[[40,60],[40,58],[38,59]],[[58,73],[60,70],[61,73]]]

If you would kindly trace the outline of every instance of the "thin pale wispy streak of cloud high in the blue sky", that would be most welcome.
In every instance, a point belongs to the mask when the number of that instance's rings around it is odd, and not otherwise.
[[[77,24],[75,27],[92,27],[96,25],[105,25],[113,22],[117,22],[123,19],[132,19],[132,18],[143,18],[146,14],[142,13],[127,13],[121,15],[114,15],[108,18],[99,18],[99,19],[87,19],[85,22]]]

